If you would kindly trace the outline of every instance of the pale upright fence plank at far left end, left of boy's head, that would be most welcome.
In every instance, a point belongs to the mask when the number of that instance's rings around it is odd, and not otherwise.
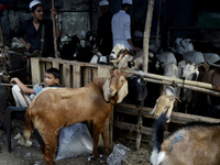
[[[40,62],[38,58],[31,58],[31,73],[32,73],[32,85],[41,82],[41,73],[40,73]]]

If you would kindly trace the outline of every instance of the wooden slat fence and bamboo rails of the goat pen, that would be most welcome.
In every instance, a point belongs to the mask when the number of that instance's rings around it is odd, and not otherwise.
[[[32,57],[31,58],[32,84],[33,85],[42,84],[43,78],[44,78],[43,77],[44,70],[50,67],[55,67],[61,70],[59,85],[62,87],[70,87],[70,88],[84,87],[88,85],[92,80],[92,78],[96,78],[96,77],[108,77],[110,75],[109,69],[113,68],[113,66],[109,66],[109,65],[98,65],[98,64],[80,63],[80,62],[74,62],[74,61],[72,62],[72,61],[64,61],[64,59],[57,59],[57,58]],[[127,70],[122,70],[122,72],[127,73]],[[134,72],[134,74],[139,75],[140,73]],[[148,74],[148,73],[142,73],[142,76],[145,77],[144,80],[152,81],[155,84],[172,84],[172,81],[174,80],[177,82],[177,86],[180,86],[180,82],[183,81],[182,79],[172,79],[170,81],[170,77],[168,78],[169,81],[167,81],[167,77],[165,76],[158,76],[158,75]],[[201,92],[211,92],[212,95],[217,95],[217,96],[220,95],[219,92],[215,92],[213,90],[211,90],[210,89],[211,85],[209,84],[199,82],[199,85],[201,85],[202,87],[197,87],[194,84],[194,81],[188,81],[188,82],[189,82],[188,85],[185,85],[186,88],[188,87],[193,90],[200,89]],[[111,116],[106,128],[109,146],[112,146],[113,127],[124,129],[124,130],[131,130],[139,134],[151,135],[152,133],[152,128],[144,127],[143,122],[133,124],[133,123],[128,123],[128,122],[118,121],[113,119],[113,112],[119,112],[119,113],[129,114],[136,118],[141,117],[144,119],[153,120],[154,119],[153,116],[150,114],[151,111],[152,111],[152,108],[148,108],[148,107],[140,107],[136,109],[135,106],[133,105],[128,105],[128,103],[117,105],[111,111]],[[187,113],[182,113],[182,112],[172,113],[170,123],[185,124],[189,121],[204,121],[204,122],[217,123],[217,122],[220,122],[220,119],[187,114]],[[89,127],[89,130],[92,131],[91,125],[88,125],[88,127]],[[99,141],[99,145],[102,145],[102,141]],[[140,144],[136,144],[136,148],[140,148]]]

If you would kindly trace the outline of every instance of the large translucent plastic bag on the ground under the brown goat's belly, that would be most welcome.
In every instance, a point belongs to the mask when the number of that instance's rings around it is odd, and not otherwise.
[[[56,160],[78,157],[92,154],[94,141],[84,123],[76,123],[62,128],[58,135],[58,151]]]

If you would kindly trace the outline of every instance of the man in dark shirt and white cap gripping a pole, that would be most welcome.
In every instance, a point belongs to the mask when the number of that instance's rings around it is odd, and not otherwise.
[[[20,25],[16,37],[29,50],[29,53],[40,51],[43,57],[55,57],[52,20],[44,19],[44,7],[41,1],[31,1],[29,8],[33,18]],[[57,12],[52,9],[51,13],[55,15],[56,37],[59,37]]]

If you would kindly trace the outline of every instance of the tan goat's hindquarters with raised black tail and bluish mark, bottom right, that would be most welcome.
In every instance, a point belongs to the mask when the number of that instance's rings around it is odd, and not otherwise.
[[[153,165],[219,165],[220,123],[189,123],[164,139],[166,114],[154,124]]]

